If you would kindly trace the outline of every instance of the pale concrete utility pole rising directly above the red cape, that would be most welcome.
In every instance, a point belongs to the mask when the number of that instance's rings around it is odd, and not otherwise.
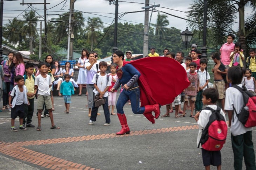
[[[160,7],[160,5],[149,6],[149,0],[145,0],[145,6],[141,8],[141,9],[145,9],[144,35],[143,35],[143,57],[148,55],[148,29],[149,29],[149,24],[150,24],[148,22],[149,8],[155,8],[155,7]],[[153,10],[152,10],[152,12],[153,12]],[[150,17],[150,20],[151,20],[151,17]]]

